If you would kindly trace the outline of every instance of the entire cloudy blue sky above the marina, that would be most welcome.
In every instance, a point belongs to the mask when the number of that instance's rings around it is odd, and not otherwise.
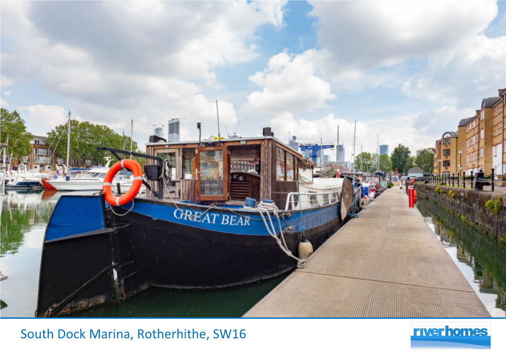
[[[351,160],[413,155],[506,87],[506,2],[0,3],[1,104],[45,135],[73,119],[128,132],[181,120],[337,141]],[[225,128],[226,127],[226,128]],[[106,145],[106,144],[104,144]],[[335,150],[326,150],[335,157]]]

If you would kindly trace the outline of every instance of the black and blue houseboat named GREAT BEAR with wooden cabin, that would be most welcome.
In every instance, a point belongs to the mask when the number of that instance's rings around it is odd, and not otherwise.
[[[130,154],[99,149],[120,161],[118,154]],[[270,128],[250,138],[152,136],[146,150],[133,153],[146,158],[144,171],[130,169],[139,182],[144,173],[145,197],[134,197],[134,186],[121,198],[110,195],[106,177],[105,193],[58,200],[44,239],[36,316],[113,301],[115,281],[125,298],[149,286],[218,288],[280,275],[304,266],[301,242],[316,250],[360,201],[348,178],[301,189],[302,155]],[[255,172],[241,171],[244,162]]]

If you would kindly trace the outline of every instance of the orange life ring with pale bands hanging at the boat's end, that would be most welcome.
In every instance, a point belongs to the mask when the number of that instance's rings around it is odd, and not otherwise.
[[[130,190],[126,192],[126,194],[121,196],[114,196],[111,191],[112,179],[121,169],[130,169],[134,174],[134,181]],[[131,159],[123,159],[114,164],[104,178],[104,185],[102,185],[102,190],[105,192],[105,201],[107,201],[110,205],[121,206],[125,203],[132,201],[132,199],[137,195],[142,185],[142,169],[139,163],[135,160]]]

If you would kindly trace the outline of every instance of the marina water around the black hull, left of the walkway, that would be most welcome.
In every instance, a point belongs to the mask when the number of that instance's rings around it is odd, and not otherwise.
[[[46,225],[61,193],[7,191],[2,206],[0,317],[33,317]],[[73,317],[240,317],[288,274],[217,290],[150,288],[128,300],[97,306]]]

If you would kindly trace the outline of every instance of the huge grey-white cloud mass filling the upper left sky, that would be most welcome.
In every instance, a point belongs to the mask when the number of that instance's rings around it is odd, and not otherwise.
[[[44,91],[69,100],[72,112],[82,119],[117,131],[135,119],[139,142],[152,133],[147,124],[166,124],[172,117],[188,118],[182,122],[182,138],[195,135],[196,122],[213,133],[216,102],[197,83],[217,86],[215,67],[256,58],[256,30],[263,25],[283,27],[285,5],[2,4],[2,41],[7,49],[0,59],[2,87],[37,80]],[[218,100],[220,122],[236,123],[232,103]],[[53,126],[51,119],[59,107],[37,107],[26,107],[33,122]]]

